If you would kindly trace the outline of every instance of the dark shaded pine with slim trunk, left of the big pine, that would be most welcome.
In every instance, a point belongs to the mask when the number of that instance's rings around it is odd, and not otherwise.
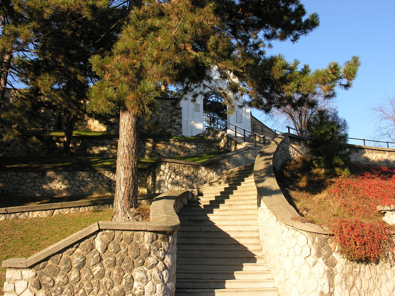
[[[97,79],[88,59],[111,49],[125,15],[126,10],[96,6],[90,7],[89,18],[78,11],[55,12],[38,21],[35,34],[47,33],[32,44],[34,53],[17,63],[30,99],[40,101],[44,109],[58,111],[63,120],[64,155],[70,154],[75,123],[87,112],[89,84]]]

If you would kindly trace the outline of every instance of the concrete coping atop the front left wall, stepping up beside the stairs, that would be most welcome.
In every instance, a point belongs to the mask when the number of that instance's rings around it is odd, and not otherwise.
[[[151,222],[98,221],[28,258],[11,258],[4,260],[2,262],[2,267],[29,268],[98,230],[175,231],[180,227],[180,220],[175,212],[175,205],[189,193],[190,191],[188,190],[177,190],[162,193],[156,197],[151,205]]]

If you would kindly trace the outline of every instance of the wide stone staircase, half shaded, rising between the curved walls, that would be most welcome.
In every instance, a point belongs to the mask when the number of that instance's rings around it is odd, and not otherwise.
[[[277,296],[258,232],[253,164],[198,188],[179,213],[175,296]]]

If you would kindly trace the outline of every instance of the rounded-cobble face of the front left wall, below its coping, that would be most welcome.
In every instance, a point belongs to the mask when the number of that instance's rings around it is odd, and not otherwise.
[[[4,296],[173,295],[176,236],[103,230],[31,268],[8,268]]]

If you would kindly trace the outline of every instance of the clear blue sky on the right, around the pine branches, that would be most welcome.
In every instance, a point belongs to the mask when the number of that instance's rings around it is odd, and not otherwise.
[[[353,88],[338,89],[336,105],[339,115],[348,122],[349,137],[372,139],[375,122],[369,108],[395,94],[395,1],[301,0],[301,3],[307,14],[320,15],[320,26],[302,36],[298,43],[276,43],[267,53],[282,53],[287,60],[298,59],[301,65],[310,64],[312,69],[326,67],[331,61],[343,65],[352,56],[359,56],[361,67]],[[260,111],[252,110],[252,114],[265,122]],[[275,128],[271,122],[265,123]]]

